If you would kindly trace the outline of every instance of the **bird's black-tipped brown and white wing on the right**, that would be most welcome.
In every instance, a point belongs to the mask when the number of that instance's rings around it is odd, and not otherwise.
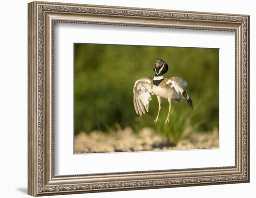
[[[167,85],[169,85],[171,88],[174,88],[177,93],[181,93],[183,98],[186,99],[186,101],[189,103],[190,109],[193,110],[193,102],[189,96],[189,94],[186,93],[186,91],[183,89],[184,87],[188,86],[188,83],[181,77],[171,77],[167,82]]]

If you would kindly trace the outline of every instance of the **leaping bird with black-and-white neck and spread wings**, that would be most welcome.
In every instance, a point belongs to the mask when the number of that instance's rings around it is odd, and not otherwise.
[[[154,94],[157,96],[158,101],[158,113],[154,120],[155,124],[159,121],[161,103],[164,98],[167,99],[169,103],[165,124],[169,122],[171,102],[182,102],[180,94],[186,99],[190,109],[193,111],[192,99],[183,89],[188,86],[186,80],[182,77],[164,78],[163,75],[168,71],[168,64],[161,58],[155,59],[153,70],[155,72],[154,77],[141,77],[135,81],[133,102],[136,114],[140,114],[141,116],[142,114],[145,114],[145,110],[148,112],[148,105]]]

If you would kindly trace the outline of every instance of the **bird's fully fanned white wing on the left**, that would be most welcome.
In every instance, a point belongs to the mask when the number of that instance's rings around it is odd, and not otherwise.
[[[148,112],[148,104],[151,101],[153,95],[151,89],[152,79],[150,77],[143,77],[137,80],[133,88],[133,103],[136,114],[145,114],[145,109]]]

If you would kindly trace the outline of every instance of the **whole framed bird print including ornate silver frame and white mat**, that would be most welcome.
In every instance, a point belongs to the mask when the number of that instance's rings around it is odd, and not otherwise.
[[[28,4],[28,194],[249,182],[249,16]]]

